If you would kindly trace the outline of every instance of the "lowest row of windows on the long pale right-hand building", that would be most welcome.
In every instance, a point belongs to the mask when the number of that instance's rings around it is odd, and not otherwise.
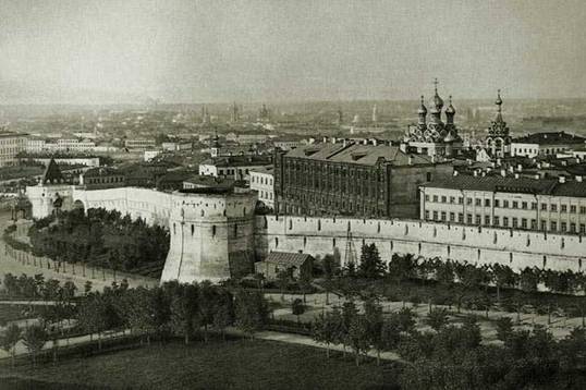
[[[431,217],[431,218],[430,218]],[[434,220],[434,221],[442,221],[442,222],[456,222],[456,214],[455,212],[447,212],[447,211],[434,211],[430,214],[429,211],[425,211],[425,219],[426,220]],[[457,223],[464,223],[464,214],[459,212],[457,214]],[[548,221],[541,220],[539,223],[539,227],[537,226],[536,219],[527,219],[527,218],[509,218],[509,217],[502,217],[502,220],[499,216],[495,216],[492,223],[490,221],[490,216],[485,216],[483,219],[483,216],[480,215],[472,215],[466,214],[466,224],[478,224],[478,226],[492,226],[492,227],[502,227],[502,228],[514,228],[514,229],[532,229],[532,230],[548,230]],[[569,233],[577,233],[579,229],[579,233],[584,234],[586,233],[586,224],[579,223],[576,224],[574,222],[567,223],[567,222],[561,222],[558,224],[557,221],[550,221],[549,222],[549,230],[552,232],[569,232]]]

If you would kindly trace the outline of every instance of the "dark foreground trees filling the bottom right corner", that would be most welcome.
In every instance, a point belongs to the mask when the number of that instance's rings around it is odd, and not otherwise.
[[[379,358],[383,351],[396,352],[404,362],[398,369],[402,389],[572,388],[576,370],[586,368],[583,327],[556,341],[544,327],[514,330],[503,317],[497,324],[501,343],[483,344],[476,316],[450,325],[445,309],[436,308],[425,321],[432,330],[418,331],[408,307],[383,315],[378,301],[369,298],[361,313],[346,301],[316,318],[313,339],[325,345],[328,358],[331,345],[350,348],[356,365],[370,350]]]

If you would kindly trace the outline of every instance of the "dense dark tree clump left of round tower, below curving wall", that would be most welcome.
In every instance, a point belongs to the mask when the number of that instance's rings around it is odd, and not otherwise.
[[[36,256],[131,272],[148,265],[162,270],[169,252],[164,228],[103,208],[90,208],[85,214],[74,209],[36,220],[29,237]]]

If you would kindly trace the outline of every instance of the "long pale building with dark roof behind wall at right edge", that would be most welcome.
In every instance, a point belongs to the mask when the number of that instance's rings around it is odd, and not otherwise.
[[[586,182],[455,175],[420,186],[420,219],[586,233]]]

